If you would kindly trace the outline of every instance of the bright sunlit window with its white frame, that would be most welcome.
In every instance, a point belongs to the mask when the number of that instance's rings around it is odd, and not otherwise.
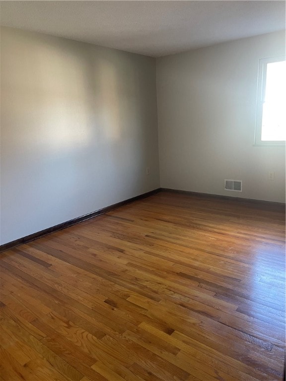
[[[286,140],[285,57],[259,62],[255,144],[285,144]]]

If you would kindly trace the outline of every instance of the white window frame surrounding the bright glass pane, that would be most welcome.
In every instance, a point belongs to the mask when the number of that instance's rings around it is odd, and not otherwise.
[[[259,60],[254,145],[282,145],[284,146],[286,143],[285,140],[261,140],[262,113],[263,113],[263,103],[265,99],[267,64],[271,64],[273,62],[281,62],[285,60],[286,60],[286,56],[262,58]]]

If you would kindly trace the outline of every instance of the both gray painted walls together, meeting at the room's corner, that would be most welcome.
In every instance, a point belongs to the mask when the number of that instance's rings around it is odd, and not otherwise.
[[[253,146],[258,60],[284,53],[284,32],[155,62],[1,28],[0,244],[160,186],[156,63],[161,187],[285,202],[285,147]]]

